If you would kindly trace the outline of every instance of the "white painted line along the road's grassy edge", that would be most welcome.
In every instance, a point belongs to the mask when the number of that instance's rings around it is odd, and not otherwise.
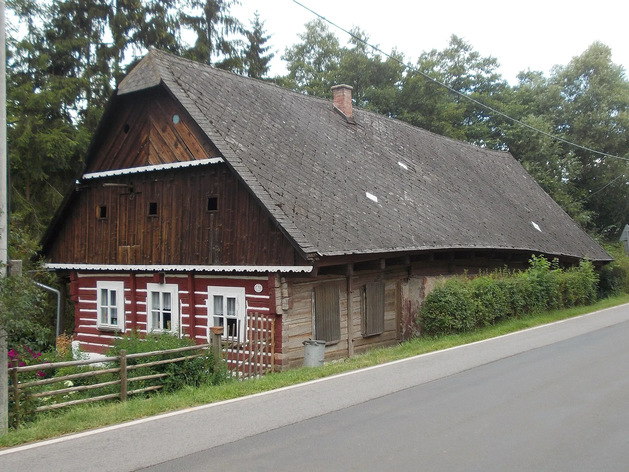
[[[286,387],[276,388],[275,390],[262,391],[260,393],[253,393],[252,395],[239,396],[238,398],[231,398],[230,400],[222,400],[221,402],[207,403],[206,405],[199,405],[198,407],[191,407],[191,408],[186,408],[184,410],[177,410],[175,412],[162,413],[160,415],[155,415],[155,416],[148,417],[148,418],[142,418],[140,420],[133,420],[133,421],[126,422],[126,423],[115,424],[115,425],[106,426],[106,427],[98,428],[98,429],[92,429],[92,430],[89,430],[89,431],[84,431],[84,432],[75,433],[75,434],[69,434],[69,435],[65,435],[65,436],[61,436],[61,437],[56,437],[54,439],[47,439],[45,441],[33,442],[31,444],[26,444],[25,446],[18,446],[18,447],[13,447],[11,449],[4,449],[4,451],[0,451],[0,456],[4,456],[4,454],[11,454],[11,452],[26,451],[26,449],[33,449],[34,447],[48,446],[48,444],[56,444],[57,442],[70,441],[70,439],[77,439],[79,437],[91,436],[92,434],[99,434],[101,432],[107,432],[107,431],[111,431],[111,430],[114,430],[114,429],[120,429],[120,428],[125,428],[125,427],[128,427],[128,426],[133,426],[133,425],[136,425],[136,424],[147,423],[147,422],[150,422],[150,421],[160,420],[162,418],[168,418],[168,417],[172,417],[172,416],[176,416],[176,415],[182,415],[184,413],[195,412],[195,411],[198,411],[198,410],[204,410],[205,408],[220,407],[221,405],[226,405],[227,403],[243,402],[245,400],[249,400],[250,398],[256,398],[258,396],[271,395],[273,393],[277,393],[277,392],[280,392],[280,391],[292,390],[293,388],[299,388],[299,387],[303,387],[303,386],[306,386],[306,385],[313,385],[315,383],[325,382],[325,381],[332,380],[332,379],[338,379],[338,378],[345,377],[345,376],[348,376],[348,375],[359,374],[359,373],[362,373],[362,372],[370,371],[372,369],[379,369],[379,368],[382,368],[382,367],[391,366],[393,364],[399,364],[400,362],[413,361],[414,359],[419,359],[420,357],[433,356],[434,354],[440,354],[441,352],[453,351],[454,349],[460,349],[462,347],[467,347],[467,346],[474,346],[474,344],[481,344],[482,342],[487,342],[487,341],[491,341],[491,340],[495,340],[495,339],[501,339],[503,337],[513,336],[515,334],[521,334],[521,333],[525,333],[527,331],[532,331],[532,330],[535,330],[535,329],[540,329],[540,328],[544,328],[544,327],[548,327],[548,326],[552,326],[552,325],[557,325],[559,323],[564,323],[564,322],[571,321],[571,320],[578,320],[579,318],[584,318],[584,317],[587,317],[589,315],[595,315],[596,313],[606,312],[607,310],[614,310],[615,308],[620,308],[621,306],[628,306],[628,305],[629,305],[629,303],[623,303],[623,305],[610,306],[610,308],[604,308],[603,310],[598,310],[596,312],[591,312],[591,313],[584,313],[583,315],[579,315],[577,317],[565,318],[564,320],[559,320],[559,321],[555,321],[555,322],[552,322],[552,323],[546,323],[544,325],[533,326],[532,328],[526,328],[526,329],[523,329],[523,330],[520,330],[520,331],[514,331],[512,333],[502,334],[502,335],[499,335],[499,336],[496,336],[496,337],[490,337],[490,338],[487,338],[487,339],[481,339],[479,341],[470,342],[468,344],[460,344],[459,346],[448,347],[447,349],[441,349],[440,351],[425,352],[424,354],[418,354],[417,356],[404,357],[404,359],[398,359],[397,361],[386,362],[384,364],[377,364],[376,366],[369,366],[369,367],[365,367],[365,368],[362,368],[362,369],[356,369],[356,370],[353,370],[353,371],[343,372],[343,373],[335,374],[335,375],[332,375],[332,376],[329,376],[329,377],[323,377],[323,378],[320,378],[320,379],[310,380],[308,382],[298,383],[298,384],[295,384],[295,385],[288,385]]]

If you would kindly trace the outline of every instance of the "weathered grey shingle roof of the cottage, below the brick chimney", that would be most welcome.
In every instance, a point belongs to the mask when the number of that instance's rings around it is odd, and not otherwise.
[[[306,253],[493,248],[612,259],[506,152],[360,108],[353,125],[324,99],[156,50],[118,94],[158,79]]]

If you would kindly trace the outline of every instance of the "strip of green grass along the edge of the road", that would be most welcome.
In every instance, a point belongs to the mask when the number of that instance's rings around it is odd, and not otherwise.
[[[251,395],[262,391],[274,390],[283,386],[294,385],[321,377],[338,374],[353,369],[395,361],[404,357],[416,356],[425,352],[438,351],[448,347],[460,346],[470,342],[489,339],[503,334],[519,331],[533,326],[550,323],[564,318],[576,317],[584,313],[609,308],[629,302],[629,295],[616,296],[601,300],[591,306],[577,306],[565,310],[540,313],[530,317],[508,320],[496,325],[465,334],[443,335],[439,337],[421,337],[403,342],[399,346],[373,349],[364,354],[345,359],[344,362],[326,364],[320,368],[291,369],[280,373],[268,374],[259,379],[248,381],[230,381],[222,385],[206,385],[199,388],[184,388],[171,394],[158,394],[145,398],[132,398],[128,402],[92,403],[67,408],[59,412],[40,415],[35,422],[26,424],[17,430],[0,436],[0,447],[15,446],[25,442],[39,441],[62,434],[103,427],[106,425],[135,420],[158,413],[181,410],[182,408],[203,405]]]

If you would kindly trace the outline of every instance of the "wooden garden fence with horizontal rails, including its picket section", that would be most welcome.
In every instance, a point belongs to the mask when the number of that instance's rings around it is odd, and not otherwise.
[[[213,332],[211,339],[212,342],[208,344],[199,344],[197,346],[179,347],[177,349],[166,349],[164,351],[138,352],[136,354],[126,354],[126,351],[124,349],[121,349],[119,356],[101,357],[100,359],[83,359],[79,361],[48,362],[46,364],[35,364],[32,366],[22,367],[19,367],[18,359],[14,359],[13,361],[11,361],[11,368],[9,368],[9,375],[13,380],[13,385],[11,385],[11,387],[9,388],[8,393],[9,400],[13,400],[14,404],[14,411],[11,413],[11,417],[14,417],[16,425],[19,425],[21,417],[20,400],[21,398],[25,399],[26,396],[28,396],[28,398],[43,398],[46,396],[66,395],[79,391],[90,391],[96,390],[98,388],[120,385],[120,391],[117,393],[90,396],[87,398],[69,400],[62,403],[54,403],[52,405],[42,405],[40,407],[32,408],[31,410],[29,410],[30,413],[64,408],[71,405],[80,405],[81,403],[100,402],[102,400],[111,400],[113,398],[120,398],[120,400],[124,402],[127,399],[128,395],[135,395],[137,393],[160,390],[164,388],[164,385],[150,385],[143,388],[129,390],[129,384],[138,381],[161,379],[169,376],[169,373],[150,374],[135,377],[130,377],[128,376],[128,374],[135,371],[136,369],[160,366],[163,364],[174,364],[175,362],[195,359],[197,357],[203,356],[204,352],[197,353],[193,351],[201,351],[202,349],[213,348],[215,366],[218,367],[221,359],[223,359],[226,362],[228,371],[235,378],[252,378],[269,373],[270,371],[274,370],[275,319],[274,317],[268,317],[265,315],[259,315],[259,313],[253,313],[247,315],[246,321],[247,325],[245,327],[244,336],[239,336],[236,332],[236,328],[233,329],[231,333],[223,335],[222,327],[220,329],[214,327],[211,329],[211,331]],[[162,359],[160,361],[151,361],[128,365],[128,361],[130,360],[179,353],[184,353],[184,355],[175,357],[174,359]],[[89,372],[67,374],[58,377],[31,380],[24,383],[19,383],[19,374],[66,367],[89,366],[91,364],[103,364],[108,362],[118,362],[119,366],[114,368],[98,369]],[[58,388],[57,390],[36,392],[31,393],[30,395],[28,395],[27,393],[28,390],[34,387],[50,385],[52,383],[72,381],[75,379],[85,379],[103,374],[120,374],[120,379],[95,383],[91,385],[66,386],[65,388]]]

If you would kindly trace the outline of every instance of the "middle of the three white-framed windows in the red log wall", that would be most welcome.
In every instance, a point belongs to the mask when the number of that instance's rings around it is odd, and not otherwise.
[[[147,284],[147,331],[179,333],[177,284]]]

